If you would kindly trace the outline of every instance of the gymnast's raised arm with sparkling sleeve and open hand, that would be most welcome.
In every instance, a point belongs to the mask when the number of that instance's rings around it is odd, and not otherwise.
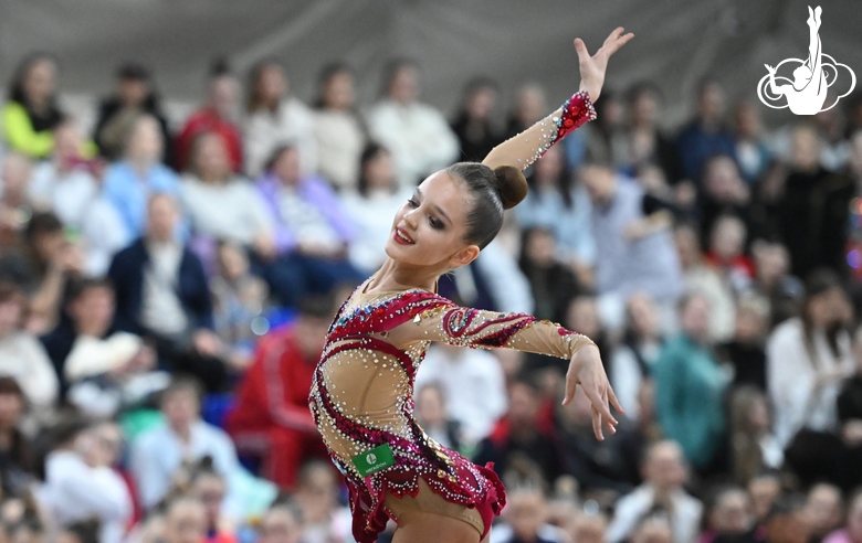
[[[575,40],[580,67],[580,89],[578,93],[553,114],[492,149],[482,163],[491,168],[513,166],[524,170],[542,157],[551,145],[588,120],[596,118],[592,103],[601,94],[608,60],[634,38],[631,32],[628,34],[622,32],[622,26],[611,32],[601,49],[592,56],[580,38]]]

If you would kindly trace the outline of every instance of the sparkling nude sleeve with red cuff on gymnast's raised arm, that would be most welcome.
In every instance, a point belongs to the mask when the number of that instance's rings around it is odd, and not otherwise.
[[[556,111],[492,149],[482,163],[491,168],[513,166],[524,170],[542,158],[550,146],[595,118],[596,108],[589,94],[579,91]]]

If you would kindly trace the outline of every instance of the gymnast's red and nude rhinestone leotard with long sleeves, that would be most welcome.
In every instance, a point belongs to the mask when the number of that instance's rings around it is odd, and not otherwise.
[[[533,139],[524,146],[525,168],[559,134],[595,117],[585,93],[561,110],[522,134]],[[347,480],[354,537],[377,541],[389,518],[398,521],[417,510],[459,518],[484,537],[505,505],[498,477],[491,465],[476,466],[431,439],[413,418],[414,376],[430,342],[564,359],[592,342],[526,313],[463,308],[423,289],[366,292],[372,279],[357,287],[333,320],[308,398],[329,455]],[[351,459],[383,444],[395,464],[362,477]]]

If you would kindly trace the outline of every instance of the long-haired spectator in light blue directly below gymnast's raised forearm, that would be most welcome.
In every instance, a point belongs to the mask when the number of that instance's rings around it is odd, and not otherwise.
[[[596,263],[596,241],[590,215],[592,205],[584,187],[572,185],[561,147],[551,147],[533,167],[527,198],[515,207],[521,226],[544,226],[554,231],[560,259],[581,280]]]

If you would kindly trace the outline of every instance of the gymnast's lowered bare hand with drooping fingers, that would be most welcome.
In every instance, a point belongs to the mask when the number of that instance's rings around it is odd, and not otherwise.
[[[616,426],[618,424],[610,413],[609,401],[618,412],[624,412],[617,400],[617,395],[613,394],[608,376],[605,374],[598,347],[592,344],[584,345],[571,358],[569,371],[566,372],[566,397],[563,400],[563,405],[571,402],[577,385],[584,388],[584,393],[592,404],[590,408],[592,413],[592,432],[596,433],[596,437],[599,440],[605,440],[605,435],[601,432],[602,424],[611,434],[617,432]]]

